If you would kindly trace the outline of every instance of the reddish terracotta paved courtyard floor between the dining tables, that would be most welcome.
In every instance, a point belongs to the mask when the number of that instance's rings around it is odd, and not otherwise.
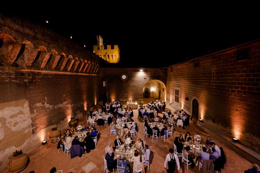
[[[173,111],[173,110],[172,110]],[[137,138],[142,138],[142,140],[146,141],[146,144],[151,149],[151,165],[150,170],[147,170],[148,173],[161,173],[166,172],[164,169],[164,160],[166,155],[168,154],[168,149],[173,147],[173,141],[175,136],[178,136],[179,134],[185,134],[187,131],[189,131],[192,135],[194,134],[200,134],[202,136],[202,142],[205,142],[206,136],[208,136],[207,133],[202,131],[200,128],[196,126],[196,124],[192,124],[190,127],[187,127],[185,130],[182,128],[177,128],[175,126],[176,131],[173,134],[173,138],[169,138],[169,140],[166,139],[164,142],[163,139],[159,139],[156,141],[155,139],[152,140],[152,138],[146,138],[143,134],[143,124],[140,123],[137,120],[137,110],[134,110],[134,117],[133,119],[138,124],[138,134],[137,137],[133,137],[133,140],[137,140]],[[162,114],[159,114],[159,116],[162,116]],[[81,122],[80,124],[86,125],[86,121]],[[47,145],[39,147],[34,153],[29,155],[30,162],[29,165],[25,170],[22,171],[22,173],[28,173],[30,171],[35,171],[35,173],[49,173],[52,167],[56,167],[57,170],[63,170],[63,173],[85,173],[84,170],[82,170],[82,167],[88,164],[90,161],[95,164],[97,167],[90,171],[90,173],[101,173],[104,172],[104,161],[103,161],[103,155],[105,156],[105,150],[106,144],[108,141],[113,142],[115,139],[115,136],[112,134],[110,136],[110,127],[103,126],[102,128],[98,128],[101,132],[101,138],[98,141],[98,145],[96,149],[91,151],[88,154],[82,155],[81,158],[75,157],[74,159],[70,159],[70,155],[67,156],[67,154],[64,155],[62,151],[58,153],[57,150],[57,143],[51,144],[48,142]],[[227,148],[225,145],[221,143],[221,141],[218,141],[216,139],[212,139],[216,142],[216,145],[218,147],[223,147],[224,152],[226,154],[226,160],[227,163],[225,164],[224,170],[222,170],[223,173],[230,173],[230,172],[237,172],[242,173],[244,170],[251,168],[252,164],[247,161],[246,159],[239,156],[234,151]],[[112,146],[114,144],[112,143]],[[7,171],[5,171],[7,172]],[[177,172],[177,171],[175,171]],[[200,172],[198,167],[195,167],[194,169],[191,169],[189,166],[189,170],[187,170],[187,166],[184,164],[184,166],[181,166],[180,172]]]

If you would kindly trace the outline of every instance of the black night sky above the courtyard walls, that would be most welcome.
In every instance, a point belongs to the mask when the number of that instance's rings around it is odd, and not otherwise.
[[[157,10],[157,4],[152,8],[95,7],[88,3],[37,8],[20,5],[0,12],[42,24],[68,39],[72,35],[75,43],[91,51],[96,35],[101,35],[103,43],[120,48],[120,62],[105,65],[110,67],[162,68],[260,39],[259,15],[253,14],[254,10],[177,12],[177,7],[167,5],[159,5]]]

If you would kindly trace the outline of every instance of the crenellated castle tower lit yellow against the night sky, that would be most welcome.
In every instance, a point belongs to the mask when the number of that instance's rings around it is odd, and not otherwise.
[[[118,45],[103,45],[103,38],[96,36],[97,45],[93,46],[94,53],[109,63],[117,63],[120,60],[120,50]]]

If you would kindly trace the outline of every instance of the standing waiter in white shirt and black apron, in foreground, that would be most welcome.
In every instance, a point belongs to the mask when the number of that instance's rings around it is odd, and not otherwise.
[[[166,164],[168,162],[168,169],[166,169]],[[178,172],[180,172],[180,162],[176,154],[172,148],[169,149],[169,154],[166,155],[166,159],[164,161],[164,168],[168,173],[173,173],[175,171],[175,167],[177,164]]]

